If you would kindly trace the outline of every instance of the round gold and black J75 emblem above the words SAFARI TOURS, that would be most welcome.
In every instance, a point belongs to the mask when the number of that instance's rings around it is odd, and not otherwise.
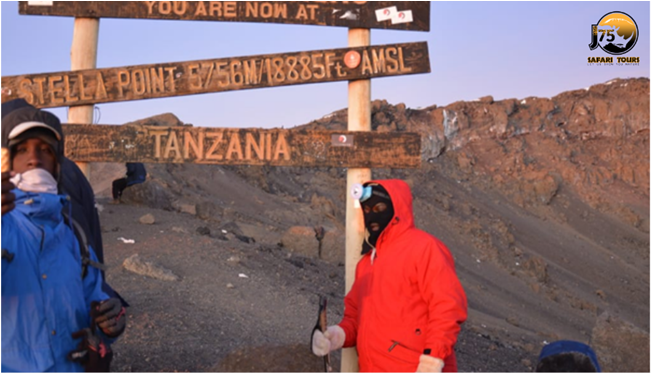
[[[607,13],[597,24],[591,25],[591,44],[612,55],[622,55],[634,48],[638,41],[638,25],[625,12]]]

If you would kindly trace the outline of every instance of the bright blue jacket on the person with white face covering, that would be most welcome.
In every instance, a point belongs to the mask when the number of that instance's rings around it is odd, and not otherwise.
[[[91,301],[107,299],[93,267],[81,277],[81,255],[63,220],[61,195],[13,190],[16,208],[2,217],[2,371],[83,371],[67,354],[90,325]],[[92,249],[91,259],[96,260]]]

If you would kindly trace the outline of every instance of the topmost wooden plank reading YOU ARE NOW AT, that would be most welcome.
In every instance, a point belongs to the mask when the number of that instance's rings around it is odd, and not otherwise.
[[[21,1],[20,14],[430,30],[429,1]]]

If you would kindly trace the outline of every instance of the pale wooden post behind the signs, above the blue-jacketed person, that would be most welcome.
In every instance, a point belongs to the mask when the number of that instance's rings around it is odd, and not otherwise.
[[[97,66],[97,42],[100,30],[99,18],[75,18],[70,49],[70,70],[95,69]],[[93,123],[94,105],[69,107],[68,123]],[[91,180],[91,165],[77,162],[86,179]]]

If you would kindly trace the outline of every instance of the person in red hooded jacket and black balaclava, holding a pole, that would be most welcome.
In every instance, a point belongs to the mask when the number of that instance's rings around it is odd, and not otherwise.
[[[356,347],[361,372],[455,372],[455,342],[467,301],[448,248],[414,226],[401,180],[367,182],[360,198],[366,238],[344,317],[312,351]]]

